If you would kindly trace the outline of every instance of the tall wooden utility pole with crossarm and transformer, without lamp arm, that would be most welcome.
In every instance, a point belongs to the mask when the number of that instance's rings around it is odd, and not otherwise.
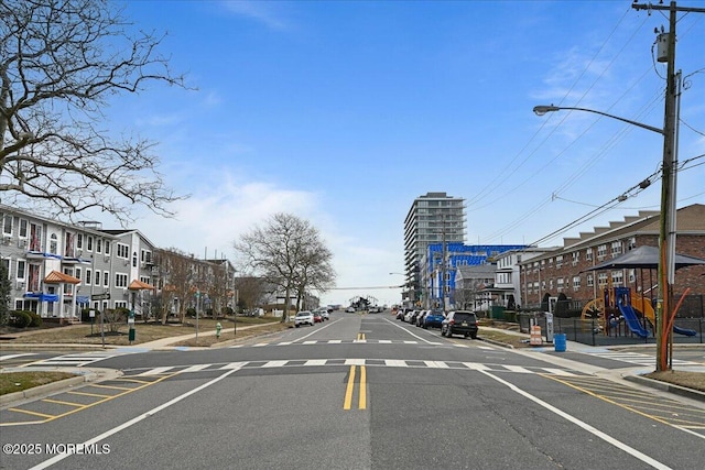
[[[634,10],[668,10],[669,31],[662,32],[658,41],[666,41],[666,54],[659,54],[659,62],[666,62],[665,114],[663,121],[663,163],[661,177],[661,216],[659,223],[659,298],[655,315],[657,329],[657,371],[665,371],[671,367],[669,338],[671,331],[666,325],[673,308],[673,283],[675,281],[675,182],[676,182],[676,102],[680,87],[676,86],[675,74],[675,25],[679,11],[705,13],[702,8],[676,7],[675,1],[669,6],[651,3],[632,3]],[[680,73],[677,75],[680,77]]]

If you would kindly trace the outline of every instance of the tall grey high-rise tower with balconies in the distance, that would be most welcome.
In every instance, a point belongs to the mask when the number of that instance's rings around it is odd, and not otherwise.
[[[421,276],[429,244],[464,242],[465,199],[446,193],[426,193],[414,199],[404,219],[404,299],[415,304],[429,295]]]

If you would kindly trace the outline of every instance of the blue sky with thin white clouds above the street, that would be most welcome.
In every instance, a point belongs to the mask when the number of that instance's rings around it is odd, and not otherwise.
[[[134,227],[160,247],[232,258],[243,231],[295,214],[334,252],[338,288],[324,303],[400,300],[390,286],[403,277],[389,273],[403,272],[404,217],[427,192],[467,200],[467,243],[532,243],[662,161],[654,132],[532,112],[579,106],[662,125],[665,66],[651,50],[668,18],[631,0],[144,0],[124,14],[167,32],[160,51],[197,88],[152,86],[107,110],[112,129],[159,142],[166,182],[192,195],[176,219],[139,211]],[[705,14],[679,18],[685,161],[705,153]],[[705,204],[703,160],[679,174],[679,207]],[[655,183],[541,245],[658,210]]]

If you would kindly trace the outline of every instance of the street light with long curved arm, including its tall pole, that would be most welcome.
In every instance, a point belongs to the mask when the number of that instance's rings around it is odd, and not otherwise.
[[[675,25],[671,24],[671,31],[675,30]],[[670,57],[675,56],[675,50],[671,50]],[[533,112],[536,116],[544,116],[546,112],[554,111],[585,111],[594,114],[604,116],[616,119],[621,122],[646,129],[663,135],[663,166],[661,178],[661,215],[660,215],[660,232],[659,232],[659,304],[657,308],[657,371],[666,370],[669,352],[664,348],[664,337],[666,335],[665,325],[670,321],[671,305],[673,299],[672,285],[675,281],[675,166],[677,163],[677,143],[675,124],[676,119],[676,92],[680,88],[680,72],[673,74],[673,62],[669,62],[669,77],[673,76],[673,80],[668,80],[666,100],[665,100],[665,119],[663,129],[653,125],[643,124],[632,121],[631,119],[620,118],[619,116],[609,114],[607,112],[597,111],[588,108],[562,107],[562,106],[535,106]],[[677,83],[677,86],[676,86]],[[670,332],[669,332],[670,334]]]

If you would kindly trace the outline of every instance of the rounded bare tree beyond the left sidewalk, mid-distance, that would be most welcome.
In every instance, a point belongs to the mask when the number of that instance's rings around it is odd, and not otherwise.
[[[330,251],[318,230],[290,214],[273,215],[263,227],[254,227],[234,243],[246,269],[284,292],[286,320],[289,299],[303,297],[307,287],[325,289],[335,282]]]

